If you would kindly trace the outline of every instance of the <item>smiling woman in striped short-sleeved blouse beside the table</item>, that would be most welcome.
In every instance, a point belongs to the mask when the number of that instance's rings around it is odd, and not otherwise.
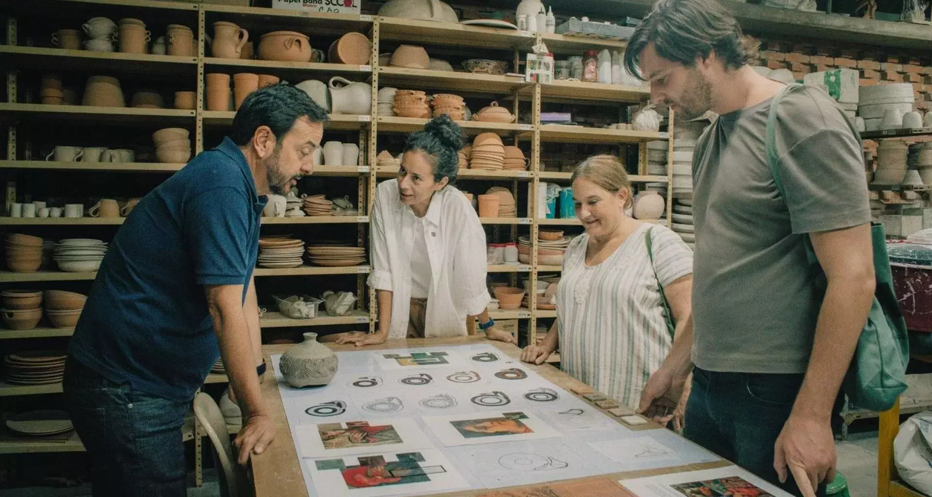
[[[660,288],[669,301],[677,338],[689,338],[692,251],[670,229],[624,214],[631,204],[631,183],[614,156],[583,161],[573,173],[572,186],[576,216],[585,233],[570,242],[563,259],[557,317],[550,333],[540,345],[527,347],[521,359],[541,364],[559,347],[561,367],[570,376],[624,406],[638,408],[651,373],[665,357],[671,351],[690,353],[673,346]],[[679,400],[651,408],[648,414],[670,421],[675,410],[681,411]],[[681,416],[674,421],[676,427],[679,421]]]

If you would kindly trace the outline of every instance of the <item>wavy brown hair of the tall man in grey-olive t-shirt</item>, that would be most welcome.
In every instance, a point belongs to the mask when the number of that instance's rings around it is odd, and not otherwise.
[[[660,0],[628,39],[624,67],[640,80],[640,52],[653,42],[657,54],[668,61],[694,67],[696,58],[713,51],[726,69],[747,64],[758,42],[742,35],[741,26],[717,0]]]

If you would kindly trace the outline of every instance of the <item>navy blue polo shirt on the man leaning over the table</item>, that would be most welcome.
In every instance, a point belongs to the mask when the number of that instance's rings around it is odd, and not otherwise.
[[[204,285],[245,298],[267,198],[229,138],[133,208],[103,257],[68,352],[108,380],[190,400],[220,356]]]

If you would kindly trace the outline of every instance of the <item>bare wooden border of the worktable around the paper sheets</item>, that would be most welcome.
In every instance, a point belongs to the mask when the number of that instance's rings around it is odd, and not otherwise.
[[[359,351],[359,350],[384,350],[384,349],[413,349],[418,347],[435,347],[437,345],[467,345],[467,344],[476,344],[476,343],[489,343],[497,347],[501,352],[510,355],[514,358],[519,358],[521,356],[521,349],[515,347],[514,345],[503,343],[500,341],[491,341],[487,340],[484,337],[461,337],[461,338],[413,338],[413,339],[399,339],[399,340],[388,340],[382,345],[377,346],[366,346],[364,348],[357,348],[352,345],[336,345],[334,343],[327,343],[326,345],[330,347],[335,352],[349,352],[349,351]],[[263,351],[266,355],[266,361],[268,364],[271,364],[270,355],[284,352],[289,345],[265,345],[263,346]],[[582,381],[575,380],[563,371],[550,366],[549,364],[544,363],[541,366],[534,366],[525,364],[529,369],[536,371],[545,379],[552,381],[556,386],[563,388],[567,392],[570,392],[571,389],[577,387],[585,386]],[[297,451],[295,450],[295,444],[292,442],[293,438],[290,432],[290,427],[288,421],[285,419],[285,410],[281,403],[281,394],[279,393],[279,385],[275,379],[274,375],[269,375],[267,379],[262,383],[262,393],[266,398],[268,408],[271,411],[272,421],[275,422],[278,426],[278,434],[275,436],[275,441],[266,449],[265,453],[261,455],[254,455],[252,457],[252,467],[253,467],[253,477],[255,485],[255,496],[256,497],[307,497],[308,489],[304,481],[304,475],[301,470],[301,461],[298,458]],[[621,422],[621,421],[618,421]],[[657,426],[656,424],[650,423],[641,426],[630,426],[628,427],[632,430],[653,430],[653,429],[663,429]],[[699,464],[688,464],[684,466],[675,466],[667,468],[659,468],[652,470],[644,471],[632,471],[626,473],[614,473],[610,475],[601,475],[601,476],[587,476],[584,478],[577,478],[571,481],[574,482],[583,482],[586,480],[601,480],[605,478],[610,478],[612,480],[619,480],[623,478],[632,478],[639,476],[653,476],[653,475],[663,475],[668,473],[680,473],[685,471],[695,471],[700,469],[711,469],[721,466],[727,466],[731,462],[721,460],[719,462],[704,462]],[[541,484],[514,487],[515,488],[526,488],[526,487],[540,487]],[[506,489],[494,489],[494,490],[506,490]],[[455,492],[445,492],[433,495],[443,495],[448,497],[474,497],[481,495],[483,493],[493,491],[493,490],[462,490]]]

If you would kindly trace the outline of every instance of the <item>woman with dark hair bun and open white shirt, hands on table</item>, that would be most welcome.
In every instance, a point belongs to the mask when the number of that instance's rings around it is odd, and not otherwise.
[[[467,316],[478,318],[487,338],[516,342],[488,316],[486,232],[450,185],[462,146],[462,131],[446,116],[408,136],[398,178],[377,186],[372,212],[368,284],[376,289],[378,331],[339,343],[464,336]]]

